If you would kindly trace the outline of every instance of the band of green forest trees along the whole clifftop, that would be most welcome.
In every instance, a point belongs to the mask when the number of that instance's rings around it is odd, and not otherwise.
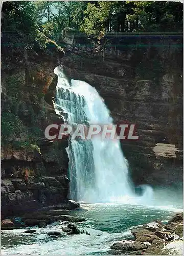
[[[47,38],[60,40],[65,28],[103,37],[106,33],[182,32],[183,23],[180,2],[22,1],[5,2],[2,11],[3,34],[24,32],[29,47],[34,41],[44,47]]]

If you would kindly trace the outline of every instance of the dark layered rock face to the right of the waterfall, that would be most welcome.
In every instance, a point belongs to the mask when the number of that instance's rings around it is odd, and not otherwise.
[[[122,148],[135,184],[182,183],[182,39],[108,38],[96,51],[74,36],[62,59],[69,78],[94,86],[114,123],[135,124],[139,140]],[[69,39],[70,39],[69,37]]]

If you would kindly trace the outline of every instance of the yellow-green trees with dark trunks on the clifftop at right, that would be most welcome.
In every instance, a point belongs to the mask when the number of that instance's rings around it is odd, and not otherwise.
[[[182,10],[182,4],[174,2],[88,3],[80,29],[95,36],[109,31],[182,31]]]

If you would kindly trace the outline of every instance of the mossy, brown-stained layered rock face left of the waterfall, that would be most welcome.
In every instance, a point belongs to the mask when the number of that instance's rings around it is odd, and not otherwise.
[[[49,124],[63,122],[52,103],[63,55],[27,54],[14,68],[3,59],[2,218],[67,201],[68,142],[44,138]]]

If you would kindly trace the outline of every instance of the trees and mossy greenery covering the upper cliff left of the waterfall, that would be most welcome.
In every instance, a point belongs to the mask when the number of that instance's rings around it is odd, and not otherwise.
[[[63,50],[48,37],[34,2],[5,2],[2,7],[2,144],[31,148],[42,134],[47,92],[52,76],[39,62],[57,65]],[[36,63],[36,64],[35,64]],[[52,69],[52,68],[51,68]],[[54,74],[53,74],[54,75]],[[43,127],[44,128],[44,127]]]

